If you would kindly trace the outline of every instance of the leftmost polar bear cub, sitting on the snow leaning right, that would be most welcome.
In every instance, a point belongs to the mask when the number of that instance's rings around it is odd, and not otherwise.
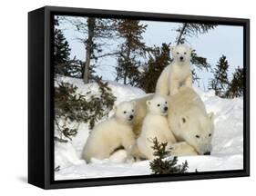
[[[132,122],[136,115],[135,102],[123,102],[114,106],[114,115],[105,122],[99,122],[90,132],[82,152],[82,158],[87,162],[91,158],[106,159],[118,147],[123,146],[130,153],[135,143]]]

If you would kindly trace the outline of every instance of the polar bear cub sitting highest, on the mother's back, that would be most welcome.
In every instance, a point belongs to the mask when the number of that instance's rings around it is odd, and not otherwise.
[[[170,48],[173,62],[160,74],[156,86],[156,93],[161,95],[174,95],[179,87],[192,86],[192,73],[190,68],[190,55],[192,49],[184,44]]]

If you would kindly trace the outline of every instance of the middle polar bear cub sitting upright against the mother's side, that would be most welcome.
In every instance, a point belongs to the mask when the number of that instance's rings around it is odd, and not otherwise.
[[[168,102],[160,95],[154,95],[152,100],[147,101],[148,113],[144,118],[141,133],[137,140],[138,151],[149,160],[154,159],[152,139],[159,142],[176,142],[173,133],[169,130],[167,121]]]

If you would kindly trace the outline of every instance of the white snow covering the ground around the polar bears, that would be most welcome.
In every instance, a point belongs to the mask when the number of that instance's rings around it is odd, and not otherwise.
[[[59,78],[73,83],[79,93],[98,94],[97,83],[84,84],[79,79]],[[117,103],[145,96],[142,90],[109,81],[109,87],[117,97]],[[243,100],[242,98],[221,99],[214,92],[202,92],[194,87],[206,105],[208,112],[215,114],[215,131],[212,138],[210,156],[179,157],[179,162],[187,160],[189,171],[224,171],[243,169]],[[109,113],[111,116],[112,113]],[[78,127],[77,136],[72,141],[55,143],[55,180],[86,179],[100,177],[148,175],[151,173],[148,161],[124,162],[126,152],[120,150],[107,160],[93,160],[87,164],[80,154],[88,136],[86,123]],[[57,134],[57,132],[56,132]]]

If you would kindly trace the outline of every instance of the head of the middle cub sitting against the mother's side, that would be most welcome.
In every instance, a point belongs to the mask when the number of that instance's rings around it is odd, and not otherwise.
[[[168,101],[163,96],[156,94],[153,99],[147,101],[149,113],[167,115]]]

